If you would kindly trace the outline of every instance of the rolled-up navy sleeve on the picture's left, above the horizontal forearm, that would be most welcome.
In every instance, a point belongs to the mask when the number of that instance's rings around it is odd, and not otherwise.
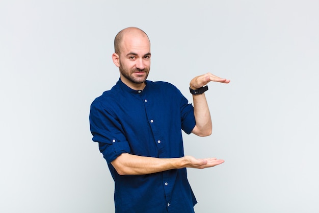
[[[94,101],[91,104],[89,120],[92,139],[98,142],[99,150],[108,163],[122,153],[130,153],[122,125],[111,109],[100,101]]]

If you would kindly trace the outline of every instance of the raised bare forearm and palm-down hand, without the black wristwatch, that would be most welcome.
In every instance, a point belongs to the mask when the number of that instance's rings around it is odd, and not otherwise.
[[[230,80],[222,79],[211,73],[207,73],[201,76],[197,76],[192,79],[190,87],[192,89],[198,89],[210,81],[229,83]],[[192,133],[198,136],[208,136],[211,134],[211,117],[206,101],[205,93],[193,95],[194,102],[194,115],[196,120],[196,126],[192,130]]]

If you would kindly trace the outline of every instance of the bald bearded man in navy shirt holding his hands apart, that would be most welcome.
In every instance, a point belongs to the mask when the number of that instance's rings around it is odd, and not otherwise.
[[[181,130],[211,134],[206,84],[229,80],[210,73],[192,79],[192,106],[174,85],[146,80],[151,51],[144,31],[121,30],[114,48],[120,78],[91,104],[90,128],[115,182],[115,211],[194,212],[186,168],[215,167],[224,160],[184,156]]]

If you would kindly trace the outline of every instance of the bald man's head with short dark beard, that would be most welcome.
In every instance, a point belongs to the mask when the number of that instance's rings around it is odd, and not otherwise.
[[[150,70],[150,41],[144,31],[129,27],[114,39],[114,64],[119,67],[123,83],[133,89],[143,89]]]

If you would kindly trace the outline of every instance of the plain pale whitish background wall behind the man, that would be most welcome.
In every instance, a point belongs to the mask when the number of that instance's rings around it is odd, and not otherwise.
[[[0,2],[0,212],[114,212],[89,107],[118,80],[113,39],[151,39],[149,80],[206,72],[214,133],[184,135],[199,212],[319,212],[318,1]]]

